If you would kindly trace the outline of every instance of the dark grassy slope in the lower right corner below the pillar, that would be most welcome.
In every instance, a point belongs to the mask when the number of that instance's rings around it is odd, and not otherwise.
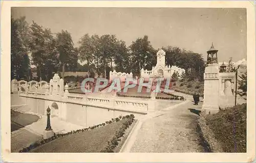
[[[246,103],[205,118],[224,152],[246,152]]]

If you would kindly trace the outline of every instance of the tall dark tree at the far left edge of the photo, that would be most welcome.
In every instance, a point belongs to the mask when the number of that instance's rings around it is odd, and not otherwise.
[[[25,17],[19,19],[11,17],[11,79],[28,80],[30,67],[28,39],[28,23]]]

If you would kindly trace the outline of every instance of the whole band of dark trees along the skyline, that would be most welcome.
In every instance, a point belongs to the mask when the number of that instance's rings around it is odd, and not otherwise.
[[[29,79],[30,63],[37,68],[37,75],[50,80],[53,73],[68,71],[88,71],[108,77],[109,71],[133,72],[139,76],[142,68],[151,70],[157,63],[157,49],[148,36],[137,38],[130,46],[115,35],[84,34],[74,47],[71,34],[61,30],[56,36],[51,29],[32,22],[25,17],[11,18],[11,74],[12,78]],[[178,66],[186,70],[183,77],[189,80],[203,79],[204,60],[199,53],[186,51],[180,47],[162,47],[166,52],[166,65]],[[29,59],[31,54],[31,61]],[[78,59],[86,64],[78,64]]]

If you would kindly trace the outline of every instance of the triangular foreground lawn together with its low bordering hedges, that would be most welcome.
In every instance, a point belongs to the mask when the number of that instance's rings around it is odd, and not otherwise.
[[[133,122],[134,115],[120,116],[89,128],[55,134],[19,152],[113,152]]]

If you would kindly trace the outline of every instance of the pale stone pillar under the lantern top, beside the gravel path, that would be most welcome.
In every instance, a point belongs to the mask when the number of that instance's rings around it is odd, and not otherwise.
[[[219,112],[219,65],[208,64],[204,73],[204,103],[202,106],[206,114]]]

